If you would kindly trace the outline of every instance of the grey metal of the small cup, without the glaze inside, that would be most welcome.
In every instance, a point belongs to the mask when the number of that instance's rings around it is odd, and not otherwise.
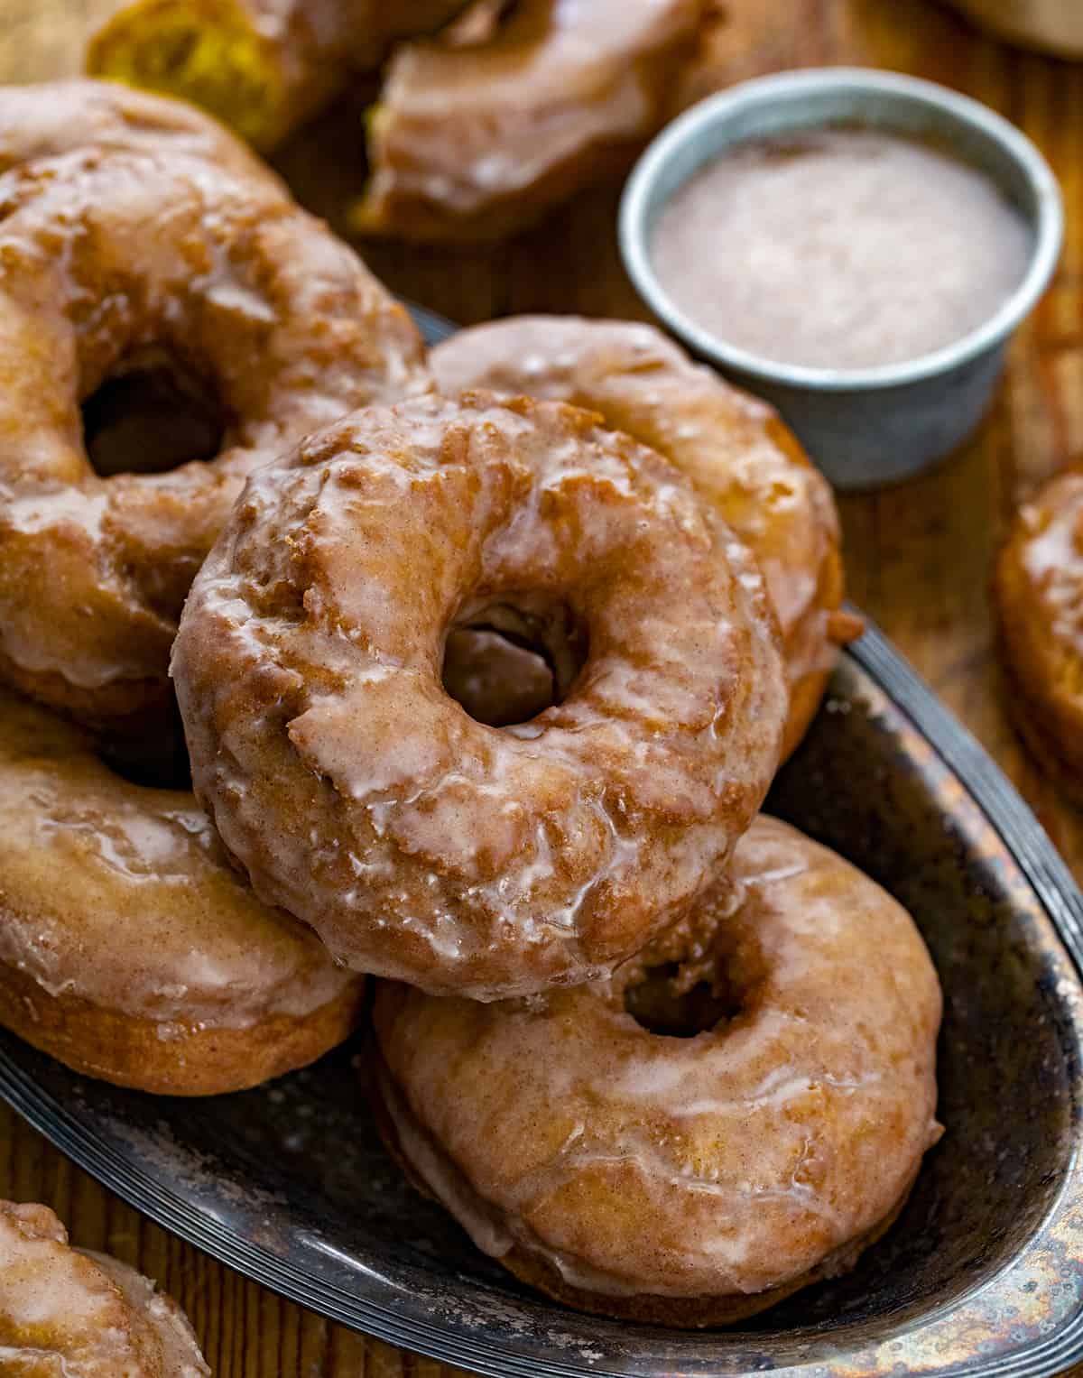
[[[1027,276],[978,329],[945,349],[878,368],[780,364],[719,339],[681,311],[654,274],[650,237],[672,194],[726,147],[827,127],[927,138],[988,174],[1033,229]],[[620,205],[620,248],[652,311],[699,357],[773,402],[839,488],[872,488],[926,469],[985,413],[1004,349],[1057,266],[1064,205],[1046,160],[1013,124],[931,81],[863,68],[783,73],[708,98],[639,158]]]

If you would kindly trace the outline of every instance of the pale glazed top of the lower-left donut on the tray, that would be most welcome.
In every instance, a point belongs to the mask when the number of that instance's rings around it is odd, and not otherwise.
[[[230,867],[192,794],[113,774],[88,740],[0,695],[0,962],[52,996],[185,1028],[303,1017],[350,973]]]

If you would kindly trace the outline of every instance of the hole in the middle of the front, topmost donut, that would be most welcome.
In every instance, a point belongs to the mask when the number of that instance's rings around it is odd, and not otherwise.
[[[587,653],[587,630],[566,604],[492,602],[448,633],[444,688],[477,722],[510,728],[562,703]]]

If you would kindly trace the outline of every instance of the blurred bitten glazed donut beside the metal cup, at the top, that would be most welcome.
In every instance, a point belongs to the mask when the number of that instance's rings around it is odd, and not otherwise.
[[[492,0],[478,0],[492,10]],[[365,234],[489,240],[621,171],[659,128],[701,0],[517,0],[404,44],[368,125]]]

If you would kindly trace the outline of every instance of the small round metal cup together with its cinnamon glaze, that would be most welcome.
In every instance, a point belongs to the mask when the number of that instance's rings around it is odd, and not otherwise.
[[[974,430],[1062,233],[1057,182],[1014,125],[860,68],[700,102],[620,208],[646,305],[773,402],[839,488],[904,478]]]

